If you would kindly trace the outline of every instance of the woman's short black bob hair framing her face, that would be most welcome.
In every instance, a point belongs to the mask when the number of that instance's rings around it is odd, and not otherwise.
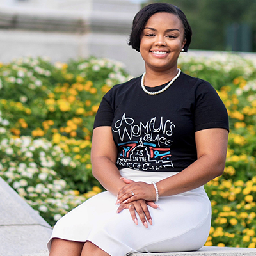
[[[189,25],[188,19],[184,12],[182,12],[182,10],[180,10],[180,8],[178,8],[177,6],[168,3],[148,4],[135,15],[132,22],[132,31],[128,45],[131,45],[133,49],[140,52],[141,32],[145,24],[147,23],[148,19],[155,13],[159,12],[172,13],[180,19],[184,28],[184,39],[186,39],[186,44],[184,45],[184,52],[187,52],[192,36],[191,26]]]

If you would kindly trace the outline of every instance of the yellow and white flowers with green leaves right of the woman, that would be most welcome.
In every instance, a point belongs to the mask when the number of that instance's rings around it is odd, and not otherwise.
[[[212,204],[205,245],[255,248],[255,63],[234,54],[180,57],[183,72],[209,81],[218,90],[230,118],[224,173],[205,185]]]

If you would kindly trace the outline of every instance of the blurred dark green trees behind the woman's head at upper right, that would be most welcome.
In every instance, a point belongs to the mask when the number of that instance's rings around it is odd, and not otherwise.
[[[230,24],[250,24],[252,38],[255,35],[256,2],[253,0],[152,0],[145,4],[156,2],[174,4],[186,14],[193,29],[191,49],[229,50],[226,49],[226,30]],[[252,45],[255,52],[253,39]]]

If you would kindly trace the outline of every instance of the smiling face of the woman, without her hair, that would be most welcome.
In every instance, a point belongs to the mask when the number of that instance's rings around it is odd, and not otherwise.
[[[152,15],[141,32],[140,40],[146,72],[177,69],[177,60],[185,43],[184,28],[176,15],[166,12]]]

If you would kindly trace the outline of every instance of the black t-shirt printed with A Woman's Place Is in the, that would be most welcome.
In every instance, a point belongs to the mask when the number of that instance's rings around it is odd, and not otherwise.
[[[195,132],[228,130],[228,115],[211,84],[181,73],[157,95],[143,92],[141,77],[113,86],[95,117],[94,128],[99,126],[112,127],[119,169],[180,172],[197,159]]]

